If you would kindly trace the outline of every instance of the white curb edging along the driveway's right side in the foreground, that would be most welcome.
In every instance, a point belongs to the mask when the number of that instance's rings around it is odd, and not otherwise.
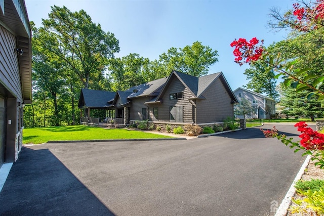
[[[293,184],[290,186],[285,198],[282,200],[282,202],[281,202],[279,208],[277,209],[277,211],[275,212],[274,216],[285,216],[287,214],[287,211],[288,211],[288,208],[292,201],[292,198],[296,193],[296,188],[295,188],[296,182],[302,178],[304,171],[310,161],[310,157],[311,157],[311,155],[308,155],[306,157],[303,165],[300,167],[300,170],[299,170],[296,178],[294,179]]]

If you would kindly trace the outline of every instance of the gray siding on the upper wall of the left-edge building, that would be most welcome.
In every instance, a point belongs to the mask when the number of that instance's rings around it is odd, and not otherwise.
[[[16,47],[15,36],[0,26],[0,83],[9,90],[13,97],[22,102],[18,59],[14,51]],[[9,95],[9,97],[12,96]]]

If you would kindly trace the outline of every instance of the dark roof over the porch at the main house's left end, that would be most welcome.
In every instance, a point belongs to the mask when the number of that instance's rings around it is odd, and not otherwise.
[[[82,89],[78,102],[78,108],[82,106],[90,108],[105,108],[110,106],[108,101],[115,97],[115,92],[106,92],[92,89]],[[83,104],[83,101],[85,102]]]

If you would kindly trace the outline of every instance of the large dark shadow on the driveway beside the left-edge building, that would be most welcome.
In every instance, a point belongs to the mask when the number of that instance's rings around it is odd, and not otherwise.
[[[0,215],[114,215],[48,149],[21,151],[0,193]]]

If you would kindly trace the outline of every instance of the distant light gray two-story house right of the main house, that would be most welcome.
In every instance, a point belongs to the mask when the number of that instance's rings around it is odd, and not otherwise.
[[[235,117],[269,119],[275,115],[275,100],[243,88],[237,88],[234,94],[238,99]]]

